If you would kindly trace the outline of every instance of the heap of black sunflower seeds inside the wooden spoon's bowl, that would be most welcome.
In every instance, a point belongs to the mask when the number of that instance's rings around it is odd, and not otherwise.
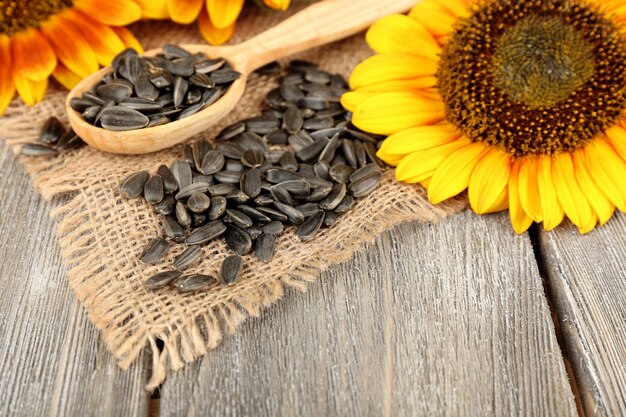
[[[132,48],[113,60],[114,71],[70,106],[107,130],[134,130],[184,119],[215,103],[241,77],[222,58],[176,45],[141,57]]]

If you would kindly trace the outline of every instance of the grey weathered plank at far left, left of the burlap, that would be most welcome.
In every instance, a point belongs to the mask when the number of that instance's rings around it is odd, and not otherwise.
[[[147,358],[120,370],[72,295],[51,204],[0,144],[0,415],[147,415]]]

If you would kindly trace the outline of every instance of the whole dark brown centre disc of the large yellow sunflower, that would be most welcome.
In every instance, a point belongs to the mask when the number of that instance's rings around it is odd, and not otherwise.
[[[583,147],[626,109],[626,45],[595,6],[492,0],[459,19],[437,84],[448,121],[514,156]]]

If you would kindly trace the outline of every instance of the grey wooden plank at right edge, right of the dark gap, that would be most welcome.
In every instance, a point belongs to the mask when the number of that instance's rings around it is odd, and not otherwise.
[[[544,268],[585,413],[626,415],[626,214],[541,233]]]

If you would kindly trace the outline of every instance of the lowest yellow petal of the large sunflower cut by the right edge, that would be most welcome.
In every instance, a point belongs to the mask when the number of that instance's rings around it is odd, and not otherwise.
[[[626,211],[626,162],[603,140],[595,140],[585,148],[591,177],[621,211]]]

